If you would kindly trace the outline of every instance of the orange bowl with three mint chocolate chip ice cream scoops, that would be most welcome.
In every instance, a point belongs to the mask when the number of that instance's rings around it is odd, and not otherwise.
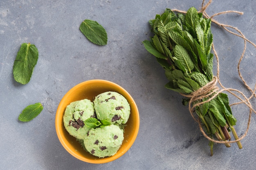
[[[72,87],[58,105],[56,133],[72,156],[107,163],[124,155],[139,131],[139,111],[120,85],[89,80]]]

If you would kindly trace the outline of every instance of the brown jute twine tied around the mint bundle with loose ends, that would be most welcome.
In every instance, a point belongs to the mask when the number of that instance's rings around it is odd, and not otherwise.
[[[237,13],[239,15],[243,15],[243,12],[239,12],[239,11],[223,11],[223,12],[220,12],[220,13],[216,13],[212,16],[209,16],[207,13],[206,13],[206,9],[209,7],[209,5],[211,4],[212,0],[209,0],[207,2],[207,4],[204,5],[204,1],[202,1],[202,7],[201,7],[201,10],[198,11],[198,13],[202,13],[202,15],[205,17],[205,18],[208,18],[208,19],[211,19],[211,22],[212,23],[215,23],[216,25],[222,27],[223,29],[225,29],[227,32],[233,34],[233,35],[236,35],[238,37],[241,37],[243,40],[244,40],[244,48],[243,48],[243,52],[240,56],[240,59],[238,61],[238,65],[237,65],[237,69],[238,69],[238,75],[241,79],[241,81],[243,82],[243,84],[245,85],[246,89],[249,90],[249,92],[251,92],[251,96],[249,96],[249,98],[247,98],[245,96],[245,94],[243,94],[242,92],[240,92],[239,90],[237,89],[232,89],[232,88],[226,88],[224,87],[221,82],[220,82],[220,65],[219,65],[219,57],[218,57],[218,54],[216,52],[216,49],[214,48],[214,44],[212,44],[212,50],[213,50],[213,53],[216,57],[216,60],[217,60],[217,75],[213,77],[212,81],[207,83],[204,87],[201,87],[200,89],[196,90],[195,92],[191,93],[191,94],[181,94],[182,96],[185,96],[187,98],[190,98],[189,100],[189,111],[191,113],[191,116],[192,118],[198,122],[198,125],[199,125],[199,128],[200,128],[200,131],[202,132],[202,134],[204,135],[204,137],[206,137],[208,140],[212,141],[212,142],[216,142],[216,143],[222,143],[222,144],[226,144],[226,143],[235,143],[235,142],[238,142],[240,141],[241,139],[243,139],[248,131],[249,131],[249,125],[250,125],[250,122],[251,122],[251,116],[252,116],[252,113],[256,113],[256,111],[254,110],[252,104],[250,103],[250,100],[253,98],[253,97],[256,97],[256,84],[254,86],[254,89],[252,89],[251,87],[249,87],[249,85],[247,84],[247,82],[245,81],[245,79],[243,78],[243,75],[241,74],[240,72],[240,63],[241,61],[243,60],[243,57],[245,55],[245,51],[246,51],[246,48],[247,48],[247,42],[249,44],[252,44],[252,46],[254,46],[254,48],[256,48],[256,44],[254,44],[252,41],[250,41],[249,39],[247,39],[245,37],[245,35],[236,27],[234,26],[230,26],[230,25],[227,25],[227,24],[221,24],[219,23],[217,20],[214,20],[213,17],[217,16],[217,15],[222,15],[222,14],[227,14],[227,13]],[[177,9],[174,9],[172,11],[176,11],[176,12],[179,12],[179,13],[186,13],[186,11],[180,11],[180,10],[177,10]],[[231,30],[234,30],[234,31],[231,31],[229,30],[228,28],[230,28]],[[220,85],[221,89],[217,86],[217,84]],[[230,106],[232,105],[238,105],[238,104],[245,104],[248,108],[249,108],[249,116],[248,116],[248,122],[247,122],[247,129],[245,130],[245,133],[240,136],[238,139],[236,140],[230,140],[230,141],[219,141],[219,140],[215,140],[215,139],[212,139],[211,137],[209,137],[205,131],[203,130],[202,128],[202,124],[200,122],[200,118],[199,117],[196,117],[194,116],[194,112],[195,112],[195,107],[197,106],[200,106],[206,102],[209,102],[211,101],[213,98],[215,98],[218,94],[222,93],[222,92],[229,92],[230,94],[232,94],[234,97],[236,97],[238,100],[240,100],[240,102],[236,102],[236,103],[233,103],[231,104]],[[202,101],[202,99],[204,98],[208,98],[207,100],[205,101]]]

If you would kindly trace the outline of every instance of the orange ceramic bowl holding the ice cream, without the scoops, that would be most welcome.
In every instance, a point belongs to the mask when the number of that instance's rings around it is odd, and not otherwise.
[[[67,105],[69,105],[71,102],[85,98],[92,100],[92,98],[98,94],[108,91],[117,92],[123,95],[130,104],[131,113],[129,120],[126,123],[127,126],[124,129],[125,133],[123,144],[117,153],[110,157],[99,158],[83,150],[79,142],[76,141],[76,138],[72,137],[66,131],[63,124],[63,114]],[[121,86],[106,80],[89,80],[74,86],[62,98],[56,111],[55,127],[58,139],[67,152],[69,152],[71,155],[88,163],[107,163],[124,155],[132,146],[139,131],[139,111],[132,96],[130,96],[130,94]]]

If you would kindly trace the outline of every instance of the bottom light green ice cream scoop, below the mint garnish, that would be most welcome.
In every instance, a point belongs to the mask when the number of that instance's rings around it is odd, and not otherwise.
[[[90,129],[83,139],[86,150],[97,157],[115,155],[123,140],[123,131],[114,124]]]

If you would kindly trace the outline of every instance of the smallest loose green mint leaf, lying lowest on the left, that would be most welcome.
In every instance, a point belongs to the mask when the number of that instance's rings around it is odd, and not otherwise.
[[[20,113],[19,120],[22,122],[29,122],[30,120],[36,118],[43,110],[43,105],[41,103],[35,103],[34,105],[27,106],[22,113]]]

